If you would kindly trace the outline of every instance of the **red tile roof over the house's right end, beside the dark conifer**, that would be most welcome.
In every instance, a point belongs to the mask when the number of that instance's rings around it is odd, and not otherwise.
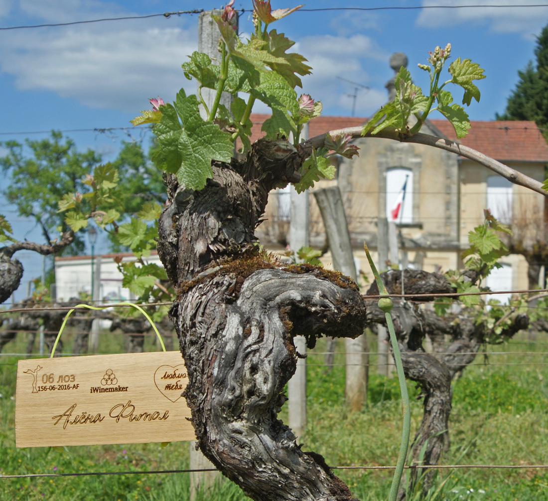
[[[439,132],[456,140],[448,120],[429,120]],[[470,132],[459,141],[499,162],[548,162],[548,145],[534,122],[472,120]]]

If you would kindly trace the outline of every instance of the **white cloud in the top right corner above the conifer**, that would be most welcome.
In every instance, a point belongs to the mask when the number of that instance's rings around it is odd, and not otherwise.
[[[547,7],[526,7],[535,5],[536,0],[476,0],[477,8],[423,9],[415,21],[415,26],[424,28],[440,28],[457,24],[473,26],[486,25],[497,33],[521,33],[529,38],[538,33],[548,19]],[[425,7],[439,5],[438,0],[423,0]],[[470,5],[468,0],[446,0],[446,6]],[[503,5],[503,7],[488,7]],[[520,5],[520,7],[504,7],[505,5]]]

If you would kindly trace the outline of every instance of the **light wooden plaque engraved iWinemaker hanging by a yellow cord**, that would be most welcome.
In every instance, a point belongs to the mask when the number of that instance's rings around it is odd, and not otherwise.
[[[180,352],[19,360],[15,446],[196,440]]]

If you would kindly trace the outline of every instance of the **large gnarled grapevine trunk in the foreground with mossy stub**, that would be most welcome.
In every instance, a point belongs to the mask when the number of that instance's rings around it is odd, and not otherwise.
[[[256,500],[350,500],[318,454],[301,451],[278,421],[298,358],[293,336],[356,337],[365,307],[343,275],[284,267],[254,246],[275,186],[296,181],[302,156],[260,140],[242,163],[213,165],[199,192],[166,176],[158,254],[177,292],[170,310],[189,374],[185,390],[198,445]]]

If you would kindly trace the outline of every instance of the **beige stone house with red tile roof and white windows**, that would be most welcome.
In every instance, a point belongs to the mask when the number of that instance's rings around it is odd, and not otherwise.
[[[356,125],[357,120],[365,121],[354,118],[342,124],[344,119],[336,117],[331,125],[330,117],[322,118],[322,132]],[[316,126],[313,130],[311,136],[318,134]],[[421,131],[456,140],[452,125],[445,119],[428,120]],[[548,146],[534,122],[472,121],[470,133],[460,142],[538,181],[546,177]],[[376,250],[379,220],[391,220],[391,211],[404,184],[405,197],[394,222],[399,235],[399,259],[407,266],[429,272],[462,267],[460,254],[469,245],[469,232],[483,223],[484,209],[509,224],[524,241],[534,239],[539,229],[544,228],[543,195],[513,185],[472,160],[442,149],[388,139],[368,137],[356,140],[355,144],[359,157],[341,158],[336,179],[317,183],[312,192],[338,184],[353,252],[362,270],[368,270],[363,242]],[[284,238],[289,225],[287,211],[283,210],[286,193],[278,190],[272,194],[267,207],[267,229],[258,228],[264,244],[274,249],[290,244]],[[325,244],[323,224],[313,197],[310,239],[313,246],[321,248]],[[329,266],[329,254],[323,260]],[[528,265],[523,256],[507,256],[502,264],[503,268],[488,278],[487,285],[493,290],[527,289]],[[386,263],[379,266],[386,268]]]

